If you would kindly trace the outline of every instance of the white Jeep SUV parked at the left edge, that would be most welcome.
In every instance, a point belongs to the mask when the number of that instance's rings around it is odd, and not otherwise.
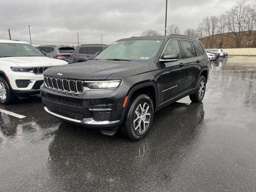
[[[0,40],[0,104],[13,102],[15,96],[40,93],[44,70],[65,64],[44,56],[27,42]]]

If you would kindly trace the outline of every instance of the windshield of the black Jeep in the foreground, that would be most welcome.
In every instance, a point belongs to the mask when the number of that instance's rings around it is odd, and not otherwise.
[[[128,40],[110,45],[95,59],[153,62],[163,40]]]

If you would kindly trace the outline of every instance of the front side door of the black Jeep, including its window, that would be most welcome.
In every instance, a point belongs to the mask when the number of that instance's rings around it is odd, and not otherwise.
[[[180,54],[177,39],[168,41],[163,54],[168,52]],[[159,65],[162,68],[161,103],[164,103],[182,93],[186,70],[180,60],[160,63]]]

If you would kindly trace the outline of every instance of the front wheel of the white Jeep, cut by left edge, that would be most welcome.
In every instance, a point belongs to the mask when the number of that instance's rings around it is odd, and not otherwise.
[[[15,95],[12,93],[6,80],[0,77],[0,104],[8,105],[14,101]]]

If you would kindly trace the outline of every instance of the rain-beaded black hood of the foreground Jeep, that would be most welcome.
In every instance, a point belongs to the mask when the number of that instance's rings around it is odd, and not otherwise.
[[[44,72],[44,75],[69,79],[104,80],[112,74],[119,74],[118,77],[122,77],[124,74],[138,74],[139,68],[145,69],[145,66],[148,65],[127,61],[89,60],[49,68]]]

